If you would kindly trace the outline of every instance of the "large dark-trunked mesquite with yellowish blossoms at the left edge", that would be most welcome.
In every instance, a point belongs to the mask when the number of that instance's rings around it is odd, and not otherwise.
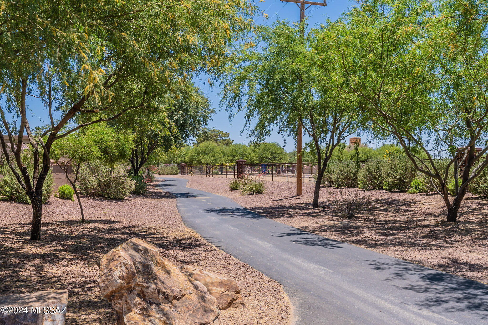
[[[2,1],[0,8],[0,117],[6,134],[0,142],[31,200],[31,240],[41,239],[42,184],[53,143],[142,110],[192,74],[218,75],[255,11],[247,0],[20,0]],[[49,115],[40,132],[30,127],[29,97],[41,98]],[[32,173],[20,154],[24,135],[32,148]]]

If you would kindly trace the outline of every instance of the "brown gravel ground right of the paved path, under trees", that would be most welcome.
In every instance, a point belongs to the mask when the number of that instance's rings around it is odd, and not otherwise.
[[[488,283],[488,201],[473,195],[463,201],[459,222],[447,223],[438,194],[367,191],[372,210],[348,220],[327,206],[330,195],[325,188],[319,208],[312,209],[312,183],[303,184],[301,197],[295,196],[295,183],[271,181],[265,181],[264,194],[242,196],[228,189],[229,179],[175,177],[189,179],[188,187],[230,197],[286,225]]]

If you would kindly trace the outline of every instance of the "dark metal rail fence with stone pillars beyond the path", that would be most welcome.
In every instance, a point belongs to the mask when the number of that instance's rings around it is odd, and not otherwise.
[[[181,166],[182,174],[196,175],[201,177],[226,177],[237,178],[237,164],[231,165],[208,165],[208,166]],[[246,176],[258,179],[280,182],[297,181],[297,164],[294,163],[273,163],[273,164],[243,164],[243,171]],[[313,182],[313,175],[317,172],[317,164],[303,163],[303,182]],[[241,172],[242,173],[242,172]]]

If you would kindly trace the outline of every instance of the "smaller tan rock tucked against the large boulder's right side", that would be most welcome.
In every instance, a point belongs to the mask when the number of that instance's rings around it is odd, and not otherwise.
[[[235,280],[224,278],[218,274],[203,271],[198,268],[193,268],[189,265],[183,265],[180,269],[193,280],[203,284],[208,292],[217,299],[221,310],[225,310],[229,307],[244,307],[244,302]]]

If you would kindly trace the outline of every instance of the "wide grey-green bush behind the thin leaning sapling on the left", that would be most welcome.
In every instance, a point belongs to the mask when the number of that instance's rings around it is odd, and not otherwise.
[[[83,164],[78,177],[80,192],[87,196],[123,199],[135,187],[127,172],[126,165],[107,166],[100,162]]]

